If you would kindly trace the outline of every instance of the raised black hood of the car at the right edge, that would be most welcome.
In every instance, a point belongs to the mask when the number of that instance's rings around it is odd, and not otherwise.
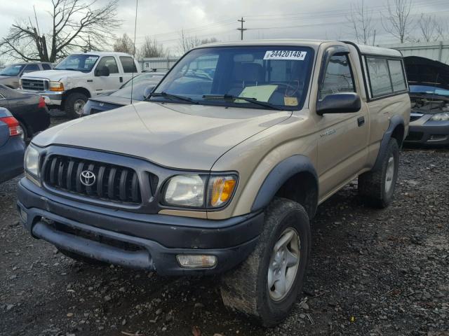
[[[417,56],[404,57],[408,85],[422,85],[449,90],[449,65]]]

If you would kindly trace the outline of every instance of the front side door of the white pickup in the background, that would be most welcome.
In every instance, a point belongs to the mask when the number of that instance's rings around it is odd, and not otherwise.
[[[98,71],[103,67],[109,69],[109,76],[98,76]],[[119,67],[114,56],[104,56],[98,62],[94,72],[95,77],[93,79],[93,87],[96,94],[107,94],[119,90],[121,85],[121,73],[119,73]]]

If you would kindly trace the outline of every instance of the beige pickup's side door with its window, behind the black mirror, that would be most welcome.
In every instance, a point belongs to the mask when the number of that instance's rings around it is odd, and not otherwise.
[[[356,60],[354,59],[355,63]],[[329,58],[318,99],[328,94],[357,92],[354,69],[349,54],[337,53]],[[318,168],[320,197],[326,198],[354,177],[368,158],[368,109],[362,102],[356,113],[329,113],[319,117]]]

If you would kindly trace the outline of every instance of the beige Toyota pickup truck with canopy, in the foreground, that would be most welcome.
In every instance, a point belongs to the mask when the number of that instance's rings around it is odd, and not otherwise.
[[[78,260],[223,274],[223,302],[272,326],[297,301],[316,207],[358,177],[387,207],[408,132],[401,53],[269,40],[187,52],[145,102],[32,140],[18,210]]]

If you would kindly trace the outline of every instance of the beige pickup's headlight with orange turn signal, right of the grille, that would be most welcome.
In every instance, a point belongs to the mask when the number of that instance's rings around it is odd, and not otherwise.
[[[166,184],[163,202],[177,207],[224,207],[234,194],[236,182],[235,175],[212,175],[209,179],[207,175],[177,175]]]

